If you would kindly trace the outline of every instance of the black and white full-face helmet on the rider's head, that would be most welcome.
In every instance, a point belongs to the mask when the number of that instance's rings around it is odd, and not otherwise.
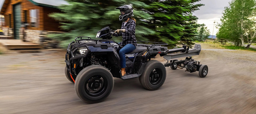
[[[134,16],[133,15],[133,8],[130,5],[122,5],[120,7],[116,8],[117,10],[120,10],[121,15],[119,16],[119,20],[123,21],[129,17]]]

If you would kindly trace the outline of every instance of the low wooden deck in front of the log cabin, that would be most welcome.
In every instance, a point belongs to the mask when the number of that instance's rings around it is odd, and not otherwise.
[[[41,49],[42,46],[30,42],[22,42],[20,39],[0,39],[0,49],[5,52],[8,50],[30,50]]]

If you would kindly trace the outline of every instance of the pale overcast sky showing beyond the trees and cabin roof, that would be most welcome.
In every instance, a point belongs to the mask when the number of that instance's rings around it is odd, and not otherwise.
[[[222,15],[222,11],[225,6],[228,6],[228,2],[231,0],[201,0],[198,3],[204,4],[204,6],[200,7],[199,11],[196,11],[194,15],[196,15],[199,20],[198,23],[205,24],[210,30],[211,34],[213,31],[213,22],[219,22]],[[2,7],[4,0],[0,0],[0,7]],[[217,29],[214,28],[213,34],[215,35]]]

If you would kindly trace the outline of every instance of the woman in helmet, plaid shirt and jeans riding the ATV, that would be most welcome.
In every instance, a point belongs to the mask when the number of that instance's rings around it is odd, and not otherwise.
[[[119,56],[121,60],[121,73],[122,76],[126,75],[125,72],[125,54],[131,53],[137,45],[137,41],[135,38],[135,26],[136,26],[136,20],[132,18],[133,15],[133,9],[130,5],[122,5],[120,7],[117,7],[116,9],[120,10],[121,15],[119,16],[120,21],[124,21],[122,23],[121,29],[117,29],[114,36],[122,36],[123,41],[120,42],[120,45],[124,46],[119,51]]]

